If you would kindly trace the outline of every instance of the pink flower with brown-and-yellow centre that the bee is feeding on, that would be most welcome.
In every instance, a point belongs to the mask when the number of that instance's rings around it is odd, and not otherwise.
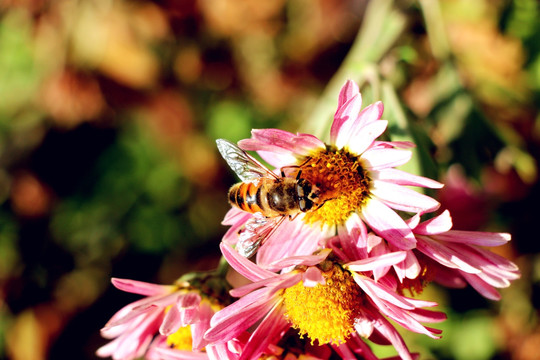
[[[442,184],[395,169],[409,161],[411,152],[406,149],[414,145],[376,141],[388,125],[381,120],[383,105],[377,102],[363,110],[361,106],[357,85],[348,81],[339,94],[329,144],[312,135],[277,129],[253,130],[251,139],[238,143],[277,169],[286,169],[287,176],[309,181],[323,203],[274,229],[259,250],[259,264],[311,254],[335,234],[336,227],[343,231],[353,214],[396,248],[415,247],[412,231],[395,210],[422,214],[437,209],[437,201],[406,186],[440,188]],[[253,216],[232,209],[224,220],[231,225],[224,240],[234,244],[238,230]]]

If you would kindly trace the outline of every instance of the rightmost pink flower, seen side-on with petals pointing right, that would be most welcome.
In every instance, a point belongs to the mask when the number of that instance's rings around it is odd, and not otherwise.
[[[419,216],[414,216],[407,223],[417,239],[416,248],[408,250],[402,262],[392,265],[393,274],[397,277],[395,286],[402,290],[420,293],[430,281],[448,287],[463,287],[468,282],[486,298],[499,300],[500,295],[495,288],[508,287],[510,281],[520,277],[513,262],[485,248],[507,243],[510,234],[451,230],[452,219],[448,210],[424,222],[419,222]],[[395,250],[374,234],[364,235],[364,238],[366,240],[358,242],[363,246],[355,249],[362,249],[362,256],[379,256]],[[330,244],[330,247],[335,245]],[[389,269],[379,268],[375,278],[383,277]]]

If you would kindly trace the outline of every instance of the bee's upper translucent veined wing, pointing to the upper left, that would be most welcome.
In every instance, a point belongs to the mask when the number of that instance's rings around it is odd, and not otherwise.
[[[227,164],[238,175],[240,180],[247,182],[260,177],[278,178],[276,174],[270,171],[251,155],[240,149],[237,145],[224,139],[216,140],[217,147],[221,156],[227,161]]]

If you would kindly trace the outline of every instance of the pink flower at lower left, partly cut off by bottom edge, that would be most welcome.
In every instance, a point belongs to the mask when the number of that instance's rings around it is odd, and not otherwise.
[[[165,286],[116,278],[112,283],[120,290],[146,297],[119,310],[101,329],[103,337],[113,340],[97,350],[98,356],[144,356],[156,334],[161,335],[171,351],[177,348],[196,353],[209,346],[203,335],[210,326],[210,318],[221,307],[197,290],[188,290],[189,284]],[[182,329],[187,332],[179,336]],[[188,348],[178,347],[186,342]]]

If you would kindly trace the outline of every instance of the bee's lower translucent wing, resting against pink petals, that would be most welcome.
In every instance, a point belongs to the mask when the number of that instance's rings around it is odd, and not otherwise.
[[[267,218],[261,213],[254,214],[240,232],[236,243],[238,253],[246,258],[253,256],[283,220],[285,216]]]

